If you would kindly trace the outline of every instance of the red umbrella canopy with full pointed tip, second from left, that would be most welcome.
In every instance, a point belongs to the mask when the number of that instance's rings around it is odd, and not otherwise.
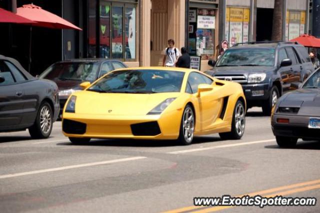
[[[40,7],[33,4],[23,5],[21,8],[17,8],[16,11],[17,15],[36,22],[32,24],[32,26],[54,29],[81,30],[80,28],[62,19],[61,17],[42,10]]]

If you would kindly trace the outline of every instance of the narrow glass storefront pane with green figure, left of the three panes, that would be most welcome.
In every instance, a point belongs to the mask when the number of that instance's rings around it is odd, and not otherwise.
[[[100,57],[110,58],[110,5],[100,2]]]

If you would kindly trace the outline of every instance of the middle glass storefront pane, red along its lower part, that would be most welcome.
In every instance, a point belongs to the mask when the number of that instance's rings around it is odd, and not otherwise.
[[[123,59],[123,8],[112,7],[112,58]]]

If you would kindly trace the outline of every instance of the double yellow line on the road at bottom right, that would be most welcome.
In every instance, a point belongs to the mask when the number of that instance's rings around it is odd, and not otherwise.
[[[314,187],[313,184],[317,184],[317,183],[320,183],[320,179],[306,181],[306,182],[300,182],[300,183],[295,183],[295,184],[291,184],[291,185],[279,186],[279,187],[275,187],[275,188],[270,188],[270,189],[265,189],[265,190],[261,190],[261,191],[251,192],[251,193],[248,193],[248,194],[236,195],[236,197],[241,197],[241,196],[244,196],[244,195],[254,196],[254,195],[268,194],[268,193],[272,193],[272,192],[278,192],[278,191],[281,191],[281,190],[292,189],[292,188],[297,188],[297,187],[306,186],[306,185],[311,185],[311,186],[308,186],[308,187],[311,187],[311,189],[307,189],[307,190],[312,190],[313,189],[312,187]],[[315,186],[317,186],[317,185],[315,185]],[[269,194],[269,195],[266,195],[266,196],[276,196],[276,195],[285,195],[285,194],[295,193],[295,192],[299,192],[299,190],[304,191],[303,189],[304,188],[308,188],[308,187],[292,189],[292,190],[283,191],[283,192],[279,192],[279,193]],[[284,192],[288,192],[288,193],[282,194]],[[162,213],[181,213],[181,212],[185,212],[185,211],[196,210],[198,208],[203,208],[203,207],[204,206],[194,206],[194,205],[192,205],[192,206],[186,206],[186,207],[177,208],[177,209],[173,209],[173,210],[169,210],[169,211],[164,211]],[[230,207],[233,207],[233,206],[216,206],[216,207],[213,207],[213,208],[222,210],[224,208],[230,208]],[[203,210],[206,210],[206,209],[212,209],[212,208],[205,208]],[[193,211],[193,212],[209,212],[209,211],[199,210],[199,211]]]

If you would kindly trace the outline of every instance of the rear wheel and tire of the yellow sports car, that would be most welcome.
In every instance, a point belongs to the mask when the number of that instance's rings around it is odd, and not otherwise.
[[[240,115],[241,118],[239,120],[239,118],[236,116],[237,114],[237,109],[238,107],[242,108]],[[242,117],[243,116],[243,117]],[[241,127],[239,127],[239,124],[243,124],[240,125]],[[237,125],[236,125],[237,124]],[[240,129],[241,131],[239,131]],[[231,131],[230,132],[222,132],[219,133],[219,136],[222,140],[239,140],[242,135],[244,134],[244,129],[245,129],[245,111],[244,111],[244,104],[242,101],[237,100],[234,109],[233,109],[233,115],[232,115],[232,123],[231,123]]]

